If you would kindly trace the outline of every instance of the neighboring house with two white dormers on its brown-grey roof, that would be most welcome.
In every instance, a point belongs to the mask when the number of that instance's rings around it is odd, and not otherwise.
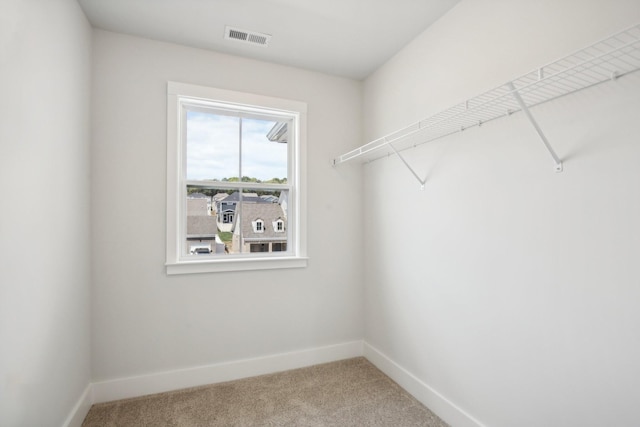
[[[277,203],[242,202],[233,224],[232,253],[287,250],[287,217]]]

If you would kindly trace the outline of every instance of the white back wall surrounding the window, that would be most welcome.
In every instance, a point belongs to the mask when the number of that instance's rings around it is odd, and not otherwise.
[[[101,30],[93,72],[95,381],[362,339],[360,83]],[[308,103],[308,268],[166,276],[169,80]]]

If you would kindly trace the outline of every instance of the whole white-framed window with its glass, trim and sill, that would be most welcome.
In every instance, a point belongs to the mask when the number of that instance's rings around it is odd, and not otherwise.
[[[306,266],[305,116],[297,101],[169,83],[168,274]]]

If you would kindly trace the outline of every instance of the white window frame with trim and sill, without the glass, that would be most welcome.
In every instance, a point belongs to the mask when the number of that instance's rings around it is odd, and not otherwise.
[[[290,146],[287,251],[246,253],[237,256],[190,257],[182,254],[186,236],[186,180],[183,132],[185,103],[217,102],[240,109],[273,111],[294,118]],[[307,266],[306,233],[306,117],[307,105],[299,101],[168,82],[167,85],[167,274],[302,268]],[[217,182],[216,182],[217,185]],[[234,183],[242,189],[242,183]]]

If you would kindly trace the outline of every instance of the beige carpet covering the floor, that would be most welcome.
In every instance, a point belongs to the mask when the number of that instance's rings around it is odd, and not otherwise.
[[[101,403],[82,425],[447,426],[362,357]]]

